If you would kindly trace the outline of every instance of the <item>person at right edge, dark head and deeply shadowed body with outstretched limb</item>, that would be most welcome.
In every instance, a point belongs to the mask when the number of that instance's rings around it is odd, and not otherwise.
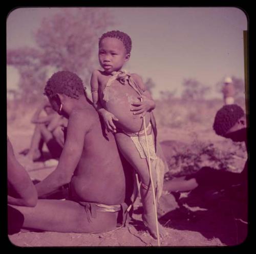
[[[236,104],[225,105],[216,113],[213,128],[217,135],[230,138],[233,142],[245,142],[247,147],[246,116],[241,107]],[[165,195],[162,199],[161,219],[172,219],[178,206],[178,213],[194,223],[205,224],[205,230],[212,225],[212,232],[218,236],[218,231],[229,230],[232,235],[233,225],[236,226],[234,239],[237,245],[243,242],[248,233],[248,188],[247,161],[241,173],[234,173],[225,168],[216,170],[209,167],[201,168],[198,172],[179,179],[172,179],[164,183],[164,190],[172,192],[189,191],[186,195],[174,200],[175,195]],[[177,204],[175,201],[177,201]],[[204,211],[192,211],[187,208],[200,207]],[[185,207],[185,209],[184,209]],[[214,216],[212,216],[214,215]],[[208,224],[210,223],[210,224]],[[193,228],[195,228],[193,226]],[[226,228],[226,229],[225,229]],[[186,228],[187,229],[187,228]],[[203,232],[203,230],[202,230]]]

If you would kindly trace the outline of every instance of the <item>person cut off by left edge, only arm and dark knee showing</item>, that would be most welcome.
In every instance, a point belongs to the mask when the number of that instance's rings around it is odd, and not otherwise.
[[[27,171],[14,156],[12,144],[7,137],[7,183],[8,204],[35,206],[37,192]],[[8,205],[8,234],[18,232],[24,217],[16,209]]]

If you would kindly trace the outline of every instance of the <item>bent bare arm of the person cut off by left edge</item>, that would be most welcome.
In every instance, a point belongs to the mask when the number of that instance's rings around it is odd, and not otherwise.
[[[29,174],[14,156],[13,148],[7,138],[7,178],[10,187],[17,197],[8,195],[8,203],[23,206],[35,206],[37,203],[36,188]]]

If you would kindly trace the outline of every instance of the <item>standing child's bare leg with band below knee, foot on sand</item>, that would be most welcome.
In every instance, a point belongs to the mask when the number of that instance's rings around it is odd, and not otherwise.
[[[145,186],[149,186],[150,183],[150,173],[148,170],[148,163],[146,158],[141,158],[140,154],[131,140],[130,136],[124,133],[116,133],[117,145],[127,161],[133,166],[133,168],[139,174],[141,181]],[[152,177],[154,181],[154,188],[156,188],[156,172],[152,170]],[[154,198],[152,184],[148,190],[141,187],[141,199],[144,208],[143,220],[146,222],[148,229],[154,237],[157,236],[156,230],[156,219],[155,219],[155,209],[154,209]],[[165,234],[163,227],[158,223],[159,234],[163,236]]]

